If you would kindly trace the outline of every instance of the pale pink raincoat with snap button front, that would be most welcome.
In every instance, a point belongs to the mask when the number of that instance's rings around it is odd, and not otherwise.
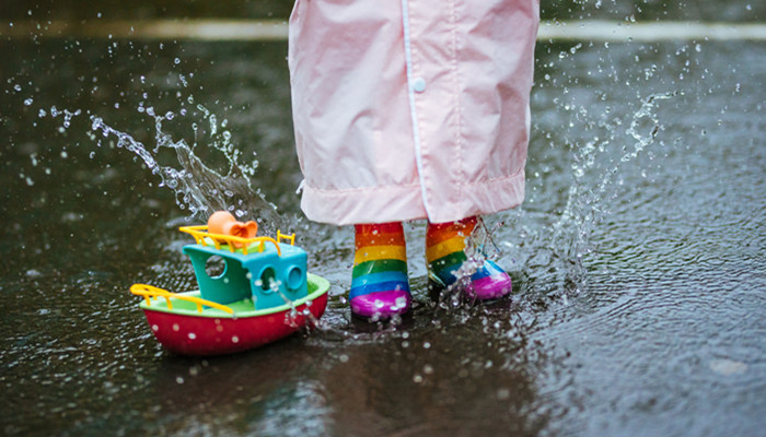
[[[297,0],[301,208],[337,225],[521,203],[537,0]]]

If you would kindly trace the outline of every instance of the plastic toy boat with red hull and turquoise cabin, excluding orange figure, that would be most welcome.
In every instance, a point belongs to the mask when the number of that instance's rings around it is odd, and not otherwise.
[[[246,238],[185,226],[196,244],[184,247],[198,291],[130,287],[156,340],[182,355],[221,355],[274,342],[312,327],[327,306],[329,283],[306,272],[295,234]],[[287,243],[282,243],[289,241]],[[218,257],[218,258],[217,258]],[[218,262],[218,263],[216,263]],[[214,271],[222,267],[222,272]]]

